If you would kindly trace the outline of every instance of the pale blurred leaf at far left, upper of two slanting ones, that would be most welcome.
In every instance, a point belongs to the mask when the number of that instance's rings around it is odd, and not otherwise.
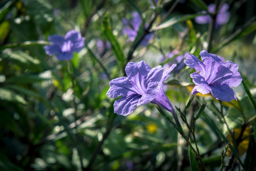
[[[7,59],[13,60],[15,64],[18,64],[18,66],[21,66],[23,69],[29,68],[36,71],[41,69],[40,60],[33,58],[25,52],[11,50],[5,50],[3,52],[9,57]]]

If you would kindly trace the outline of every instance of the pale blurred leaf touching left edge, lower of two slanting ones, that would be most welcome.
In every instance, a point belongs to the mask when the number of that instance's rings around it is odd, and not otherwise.
[[[22,96],[17,95],[17,93],[11,91],[10,89],[6,89],[6,88],[0,88],[0,99],[6,100],[6,101],[11,101],[11,102],[27,104],[26,100],[23,99]]]

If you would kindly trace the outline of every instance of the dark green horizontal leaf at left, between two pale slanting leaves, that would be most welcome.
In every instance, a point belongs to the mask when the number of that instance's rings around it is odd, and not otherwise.
[[[46,80],[49,80],[49,79],[42,78],[38,75],[21,75],[21,76],[14,76],[6,79],[6,83],[30,84],[30,83],[43,82]]]

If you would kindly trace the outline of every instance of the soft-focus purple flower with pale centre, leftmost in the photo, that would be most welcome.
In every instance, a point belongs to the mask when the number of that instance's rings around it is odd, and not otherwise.
[[[65,37],[55,34],[48,36],[51,45],[44,46],[47,55],[57,55],[58,60],[70,60],[72,52],[79,52],[84,47],[84,39],[80,32],[70,30]]]

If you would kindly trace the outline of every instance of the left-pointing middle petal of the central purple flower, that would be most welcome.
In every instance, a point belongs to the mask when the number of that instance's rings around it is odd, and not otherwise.
[[[129,82],[126,76],[111,80],[111,82],[109,82],[109,86],[107,95],[110,98],[130,96],[136,93],[131,82]]]

